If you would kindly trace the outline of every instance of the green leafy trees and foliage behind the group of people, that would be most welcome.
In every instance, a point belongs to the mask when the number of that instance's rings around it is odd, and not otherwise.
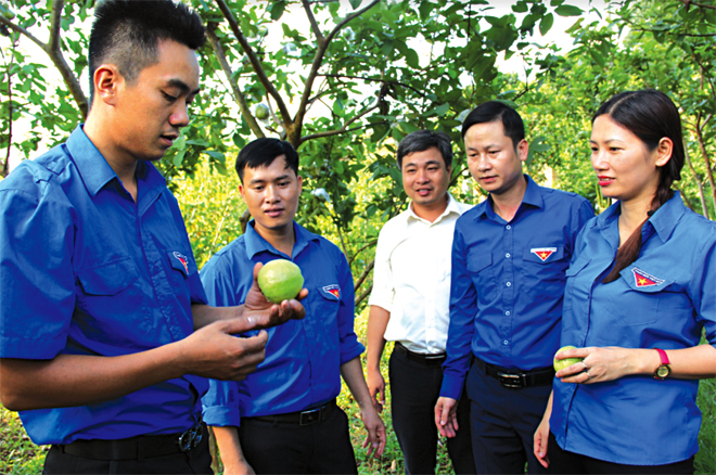
[[[504,14],[483,0],[189,3],[209,30],[200,51],[203,92],[191,125],[158,166],[182,206],[197,264],[250,219],[231,171],[238,150],[255,137],[289,140],[305,179],[297,220],[348,257],[360,335],[378,232],[407,203],[394,165],[397,141],[417,128],[448,132],[456,149],[451,191],[476,203],[482,192],[466,172],[459,125],[486,100],[509,101],[525,119],[527,172],[603,210],[609,203],[589,164],[591,114],[626,89],[666,92],[680,108],[689,152],[677,185],[689,207],[716,217],[714,0],[621,0],[599,9],[585,0],[513,0]],[[86,116],[81,85],[93,7],[93,0],[0,1],[0,177],[11,149],[33,157]],[[570,20],[571,48],[545,41],[558,17]],[[29,54],[28,42],[46,57]],[[524,74],[497,68],[510,57],[522,61]],[[17,133],[20,124],[29,124],[29,133]],[[362,429],[346,394],[342,405],[359,447]],[[716,473],[714,402],[714,381],[702,382],[700,473]],[[42,449],[14,414],[0,414],[0,472],[38,472]],[[440,464],[450,471],[445,451]],[[360,470],[402,471],[393,435],[384,459]]]

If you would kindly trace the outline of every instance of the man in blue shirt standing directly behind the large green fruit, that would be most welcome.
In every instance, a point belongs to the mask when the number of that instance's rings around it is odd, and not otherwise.
[[[213,305],[238,305],[257,262],[289,259],[304,275],[304,320],[269,329],[266,360],[242,383],[210,382],[204,419],[227,473],[356,473],[341,375],[368,432],[368,453],[385,447],[385,427],[368,391],[354,332],[354,283],[334,244],[296,223],[303,179],[289,142],[258,139],[236,158],[239,190],[254,220],[202,269]]]

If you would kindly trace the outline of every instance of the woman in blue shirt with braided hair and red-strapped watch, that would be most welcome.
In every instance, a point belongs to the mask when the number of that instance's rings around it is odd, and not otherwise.
[[[577,238],[562,318],[577,349],[559,358],[584,360],[557,373],[535,455],[553,473],[693,473],[699,380],[716,376],[716,223],[670,189],[685,152],[665,94],[615,95],[590,144],[618,202]]]

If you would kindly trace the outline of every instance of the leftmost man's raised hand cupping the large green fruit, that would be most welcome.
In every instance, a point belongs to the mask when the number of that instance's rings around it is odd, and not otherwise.
[[[306,316],[306,309],[298,300],[308,295],[306,288],[299,288],[294,297],[287,297],[280,304],[273,304],[261,293],[258,285],[258,274],[264,265],[254,266],[254,283],[246,294],[244,303],[244,318],[250,319],[254,329],[267,329],[284,323],[291,319],[303,319]],[[301,285],[303,285],[303,278]]]

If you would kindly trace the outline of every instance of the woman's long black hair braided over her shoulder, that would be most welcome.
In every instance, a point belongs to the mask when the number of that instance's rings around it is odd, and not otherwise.
[[[644,89],[614,95],[599,107],[591,119],[592,124],[601,115],[609,115],[616,124],[637,136],[649,151],[654,151],[663,138],[668,138],[674,143],[670,159],[659,169],[659,187],[648,213],[649,216],[653,215],[674,196],[672,183],[681,179],[686,154],[679,110],[663,92]],[[637,260],[641,251],[641,228],[648,219],[644,219],[629,239],[619,246],[614,268],[603,280],[604,283],[617,280],[619,272]]]

